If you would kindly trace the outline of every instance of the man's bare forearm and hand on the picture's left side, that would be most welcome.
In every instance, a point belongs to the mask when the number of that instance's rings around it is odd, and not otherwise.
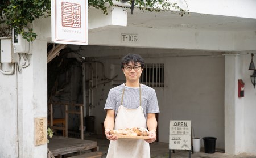
[[[109,140],[117,140],[117,136],[109,135],[109,131],[114,129],[115,125],[115,111],[112,109],[107,110],[106,118],[104,121],[105,135]]]

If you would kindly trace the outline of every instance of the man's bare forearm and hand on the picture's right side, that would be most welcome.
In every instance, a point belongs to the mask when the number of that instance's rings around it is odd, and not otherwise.
[[[152,143],[156,140],[156,127],[158,126],[158,122],[155,118],[155,113],[148,113],[147,114],[147,128],[149,130],[148,137],[146,142]]]

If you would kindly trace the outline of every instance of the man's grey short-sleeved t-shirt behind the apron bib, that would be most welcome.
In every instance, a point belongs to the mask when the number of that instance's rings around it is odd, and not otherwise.
[[[105,108],[115,110],[117,116],[118,108],[121,105],[123,87],[121,84],[110,89]],[[144,110],[144,116],[147,119],[147,113],[159,113],[158,100],[156,98],[155,89],[141,84],[141,106]],[[125,108],[136,109],[139,107],[139,87],[125,86],[125,94],[123,95],[123,104]]]

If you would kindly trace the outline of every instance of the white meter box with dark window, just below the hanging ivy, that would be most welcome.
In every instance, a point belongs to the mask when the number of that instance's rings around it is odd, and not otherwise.
[[[30,42],[23,39],[22,36],[13,29],[13,51],[14,53],[28,53],[30,50]]]

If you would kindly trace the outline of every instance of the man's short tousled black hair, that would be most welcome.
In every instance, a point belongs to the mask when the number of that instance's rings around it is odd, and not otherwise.
[[[123,67],[129,63],[140,63],[141,64],[141,68],[144,67],[144,59],[141,57],[141,55],[139,54],[127,54],[125,55],[125,57],[122,58],[121,61],[121,68],[123,69]]]

